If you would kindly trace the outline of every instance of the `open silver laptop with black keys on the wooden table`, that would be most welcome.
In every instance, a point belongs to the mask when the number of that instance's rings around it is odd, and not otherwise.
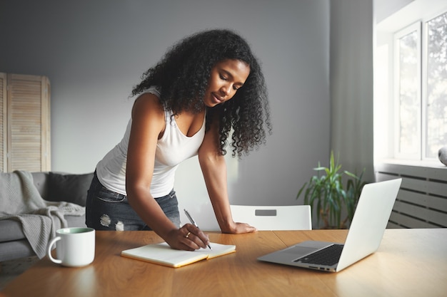
[[[373,254],[381,244],[401,182],[399,178],[363,186],[344,244],[303,241],[258,260],[337,272]]]

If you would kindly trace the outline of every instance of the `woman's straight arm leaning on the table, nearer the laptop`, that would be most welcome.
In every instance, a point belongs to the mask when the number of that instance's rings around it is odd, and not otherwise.
[[[217,222],[223,233],[249,233],[256,228],[244,223],[233,222],[226,179],[225,158],[218,149],[219,131],[217,125],[211,125],[206,132],[204,142],[199,148],[199,162],[204,174],[206,188],[213,204]]]

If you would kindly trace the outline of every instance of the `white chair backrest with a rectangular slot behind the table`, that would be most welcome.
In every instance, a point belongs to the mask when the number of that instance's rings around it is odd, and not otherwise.
[[[310,205],[248,206],[231,205],[234,222],[255,226],[258,230],[311,230]]]

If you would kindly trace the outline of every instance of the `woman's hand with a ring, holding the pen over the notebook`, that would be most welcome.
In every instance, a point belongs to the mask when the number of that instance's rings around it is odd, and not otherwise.
[[[208,249],[209,237],[193,224],[184,224],[180,229],[174,229],[167,235],[166,242],[172,249],[194,251]]]

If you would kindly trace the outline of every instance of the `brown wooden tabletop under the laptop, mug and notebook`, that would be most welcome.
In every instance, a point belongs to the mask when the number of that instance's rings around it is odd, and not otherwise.
[[[388,229],[380,249],[338,273],[256,258],[308,239],[343,242],[346,230],[209,233],[237,251],[179,269],[120,256],[161,242],[152,231],[98,231],[84,268],[42,259],[6,286],[6,296],[446,296],[447,229]],[[426,254],[423,254],[426,251]],[[1,294],[0,294],[1,295]]]

